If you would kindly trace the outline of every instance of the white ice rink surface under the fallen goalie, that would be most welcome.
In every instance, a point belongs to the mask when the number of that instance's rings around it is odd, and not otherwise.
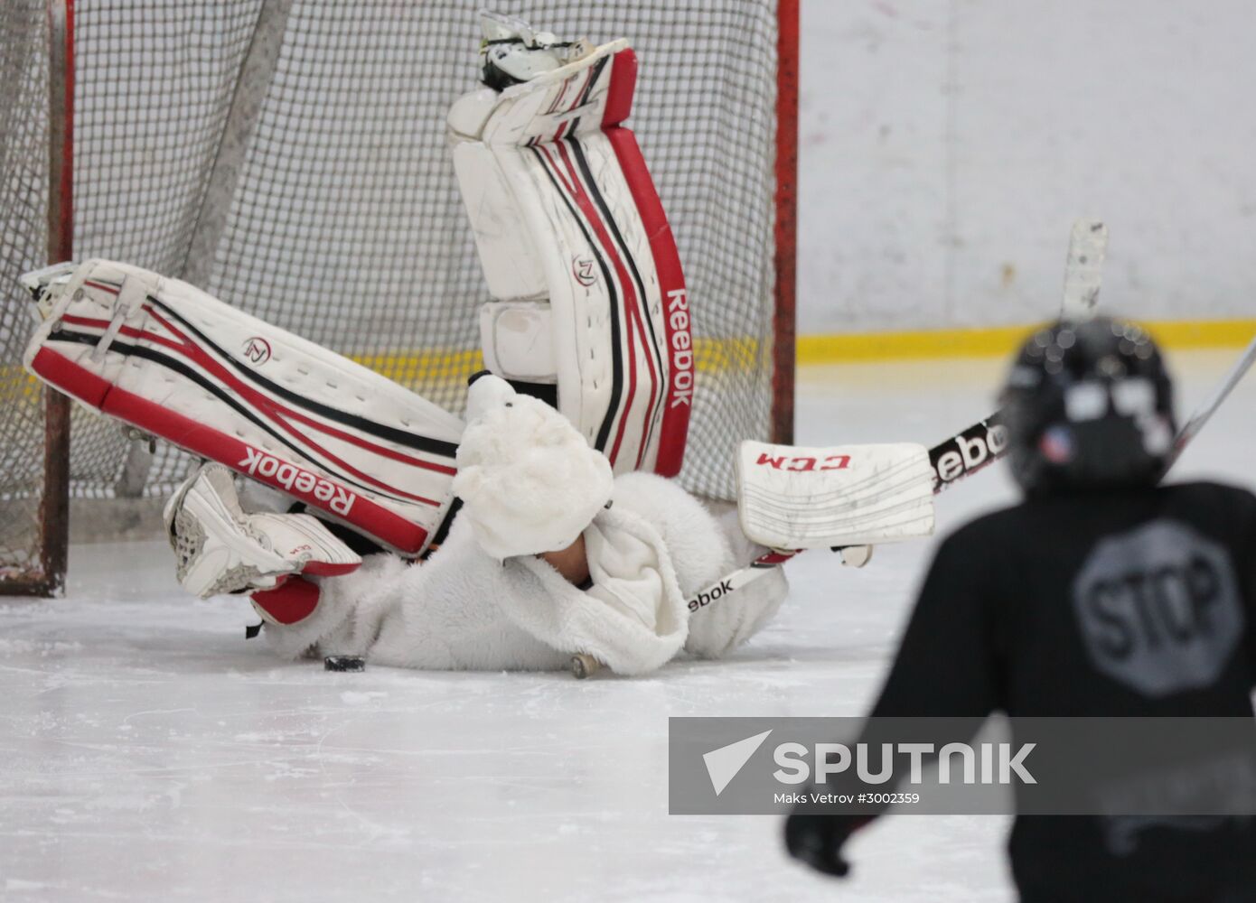
[[[1233,357],[1173,355],[1179,411]],[[928,445],[1001,373],[803,370],[798,438]],[[1251,485],[1253,406],[1250,378],[1174,479]],[[1001,466],[976,475],[939,533],[1014,497]],[[585,682],[278,662],[245,602],[180,593],[163,544],[75,548],[65,599],[0,602],[0,899],[1011,899],[1005,819],[884,819],[836,885],[786,860],[776,818],[667,814],[668,716],[862,713],[932,546],[864,570],[810,553],[730,659]]]

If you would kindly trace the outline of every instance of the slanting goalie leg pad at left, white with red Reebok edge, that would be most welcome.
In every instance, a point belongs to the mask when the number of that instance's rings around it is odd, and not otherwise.
[[[89,260],[54,290],[24,358],[36,377],[387,548],[427,546],[452,500],[457,417],[176,279]]]

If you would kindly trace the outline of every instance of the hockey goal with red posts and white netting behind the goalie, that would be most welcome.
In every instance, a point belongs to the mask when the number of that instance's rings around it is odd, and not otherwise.
[[[475,8],[8,0],[0,589],[55,592],[67,496],[163,496],[188,463],[83,411],[67,448],[57,404],[46,417],[20,368],[34,322],[15,276],[49,259],[182,278],[461,409],[486,289],[445,114],[477,78]],[[627,36],[641,58],[629,124],[677,236],[697,349],[681,479],[730,497],[737,441],[785,441],[793,418],[798,0],[494,9]]]

